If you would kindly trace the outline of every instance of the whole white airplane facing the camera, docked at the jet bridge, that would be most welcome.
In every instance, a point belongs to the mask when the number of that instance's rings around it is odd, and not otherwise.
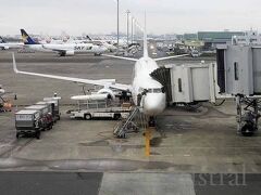
[[[60,80],[73,81],[77,83],[87,83],[87,84],[96,84],[96,86],[103,87],[100,91],[98,91],[98,94],[109,94],[110,96],[114,96],[113,90],[129,92],[132,93],[134,104],[140,108],[140,112],[147,116],[150,122],[151,120],[154,121],[154,117],[160,115],[165,109],[165,104],[166,104],[165,102],[166,95],[162,90],[163,86],[150,76],[150,74],[153,70],[159,68],[159,65],[157,64],[157,62],[175,58],[175,57],[187,56],[188,54],[166,56],[166,57],[160,57],[160,58],[149,57],[147,32],[145,27],[144,56],[141,58],[122,57],[122,56],[114,56],[114,55],[108,55],[108,54],[103,54],[103,55],[108,57],[114,57],[119,60],[135,62],[134,79],[132,84],[116,83],[115,80],[89,80],[89,79],[80,79],[80,78],[73,78],[73,77],[63,77],[63,76],[57,76],[57,75],[47,75],[47,74],[18,70],[16,66],[14,53],[12,54],[13,70],[16,74],[38,76],[38,77],[60,79]],[[80,95],[80,99],[83,100],[83,95]]]

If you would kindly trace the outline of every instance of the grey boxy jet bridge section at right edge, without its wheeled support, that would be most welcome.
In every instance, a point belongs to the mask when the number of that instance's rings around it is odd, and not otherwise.
[[[221,93],[261,94],[261,46],[217,46],[216,62]]]

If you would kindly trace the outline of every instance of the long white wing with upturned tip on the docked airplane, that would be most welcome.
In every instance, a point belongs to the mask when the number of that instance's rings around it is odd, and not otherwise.
[[[113,82],[115,80],[112,80],[112,79],[89,80],[89,79],[63,77],[63,76],[38,74],[38,73],[30,73],[30,72],[21,72],[17,69],[14,53],[12,53],[12,56],[13,56],[13,70],[16,74],[38,76],[38,77],[52,78],[52,79],[59,79],[59,80],[66,80],[66,81],[78,82],[78,83],[102,86],[102,87],[107,87],[107,88],[117,89],[121,91],[130,91],[130,89],[132,89],[132,87],[129,84],[115,83],[115,82]]]

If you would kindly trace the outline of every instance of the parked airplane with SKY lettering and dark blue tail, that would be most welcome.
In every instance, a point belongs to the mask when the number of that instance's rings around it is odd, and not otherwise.
[[[75,53],[101,55],[107,51],[105,47],[92,43],[39,43],[34,41],[24,29],[21,29],[21,34],[26,48],[41,52],[57,52],[60,56],[74,55]]]

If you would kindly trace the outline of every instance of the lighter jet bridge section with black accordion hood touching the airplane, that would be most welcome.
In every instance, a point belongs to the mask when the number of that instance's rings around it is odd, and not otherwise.
[[[166,93],[167,104],[215,102],[214,64],[167,65],[151,73]]]

